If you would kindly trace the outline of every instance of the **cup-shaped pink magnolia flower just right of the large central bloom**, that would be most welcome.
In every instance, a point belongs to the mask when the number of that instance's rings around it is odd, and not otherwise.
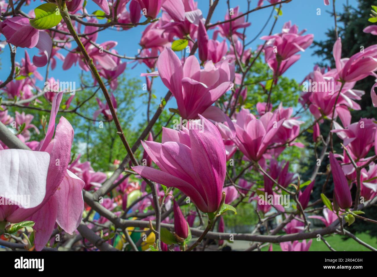
[[[234,142],[246,158],[259,161],[283,122],[284,119],[277,121],[276,115],[271,112],[257,119],[250,110],[242,108],[234,124],[237,134]]]

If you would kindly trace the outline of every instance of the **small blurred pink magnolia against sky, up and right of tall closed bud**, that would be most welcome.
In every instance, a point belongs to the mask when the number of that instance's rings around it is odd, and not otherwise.
[[[227,14],[225,14],[225,21],[234,17],[238,17],[239,15],[242,15],[242,12],[239,11],[239,6],[237,6],[236,8],[233,8],[231,15],[230,13],[231,12],[228,10]],[[242,34],[242,32],[238,32],[237,30],[240,28],[246,28],[250,25],[251,25],[250,22],[245,22],[245,17],[243,16],[243,17],[237,18],[236,20],[231,21],[231,23],[226,22],[226,23],[222,23],[218,25],[219,29],[216,30],[215,32],[219,32],[219,34],[222,37],[229,38],[231,35],[235,35],[242,39],[244,35]]]

